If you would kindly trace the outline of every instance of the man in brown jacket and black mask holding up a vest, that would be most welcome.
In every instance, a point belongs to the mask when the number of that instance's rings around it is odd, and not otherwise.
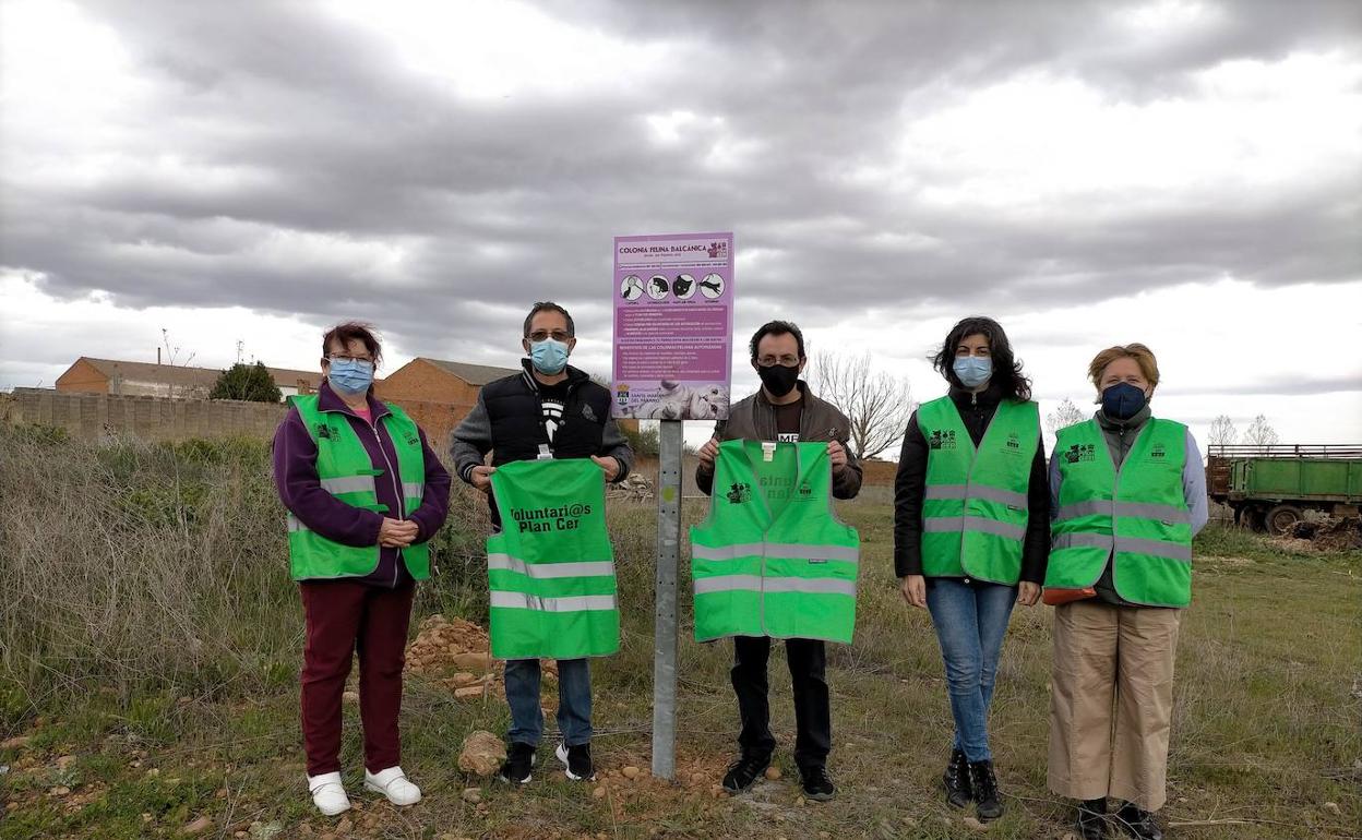
[[[752,366],[761,377],[761,388],[734,403],[729,419],[718,421],[714,437],[700,447],[696,483],[708,494],[714,487],[714,462],[719,441],[760,440],[782,442],[828,441],[832,462],[832,496],[853,498],[861,490],[861,464],[847,451],[851,423],[831,403],[820,400],[799,380],[808,358],[804,334],[789,321],[770,321],[757,329],[749,346]],[[771,639],[737,636],[733,639],[734,662],[730,677],[738,696],[742,731],[738,746],[742,754],[723,776],[729,792],[752,787],[771,764],[775,738],[771,735],[771,707],[767,700],[767,660]],[[832,715],[825,678],[827,653],[816,639],[785,640],[786,662],[794,683],[794,719],[798,730],[794,761],[799,766],[804,795],[827,801],[835,791],[828,777],[827,760],[832,746]]]

